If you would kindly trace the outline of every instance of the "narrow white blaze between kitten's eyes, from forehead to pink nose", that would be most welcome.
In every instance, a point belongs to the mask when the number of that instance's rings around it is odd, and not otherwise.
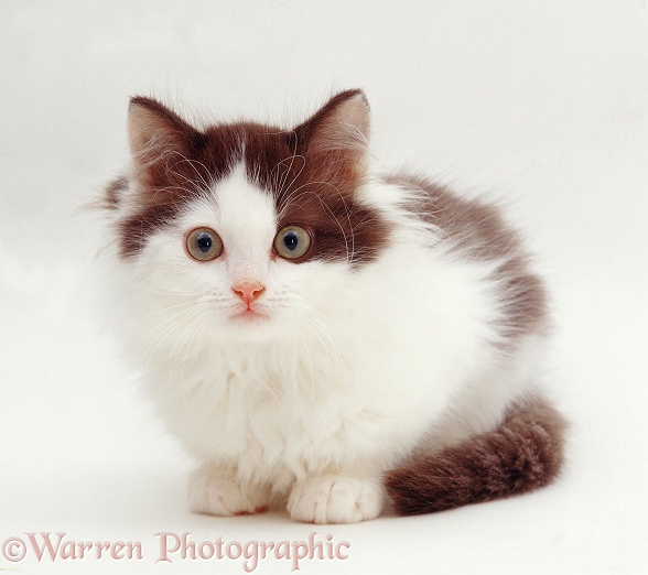
[[[233,279],[260,280],[264,274],[277,234],[277,213],[271,195],[251,184],[238,164],[214,186],[218,234]]]

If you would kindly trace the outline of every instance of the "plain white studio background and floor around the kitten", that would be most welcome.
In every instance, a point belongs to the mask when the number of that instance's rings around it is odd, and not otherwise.
[[[166,573],[155,533],[186,531],[350,543],[302,573],[648,573],[647,42],[640,0],[0,1],[0,542],[144,550],[0,568]],[[292,123],[349,87],[368,95],[384,163],[495,194],[526,229],[552,289],[566,467],[537,493],[350,527],[191,514],[191,462],[93,319],[101,228],[78,207],[127,161],[130,95]]]

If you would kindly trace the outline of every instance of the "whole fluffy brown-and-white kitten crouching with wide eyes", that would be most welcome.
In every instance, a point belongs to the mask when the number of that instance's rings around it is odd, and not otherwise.
[[[360,90],[285,130],[130,102],[111,315],[203,466],[193,511],[352,523],[548,484],[541,281],[497,210],[382,173]]]

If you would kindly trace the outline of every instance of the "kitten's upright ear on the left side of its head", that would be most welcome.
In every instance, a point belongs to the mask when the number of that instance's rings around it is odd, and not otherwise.
[[[128,139],[136,164],[144,172],[176,153],[187,158],[199,132],[180,116],[152,98],[131,98],[128,107]]]

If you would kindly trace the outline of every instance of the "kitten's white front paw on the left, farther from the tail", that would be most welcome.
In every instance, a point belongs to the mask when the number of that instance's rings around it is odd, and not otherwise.
[[[190,509],[210,516],[260,513],[268,508],[269,491],[241,484],[234,474],[203,467],[190,478]]]

